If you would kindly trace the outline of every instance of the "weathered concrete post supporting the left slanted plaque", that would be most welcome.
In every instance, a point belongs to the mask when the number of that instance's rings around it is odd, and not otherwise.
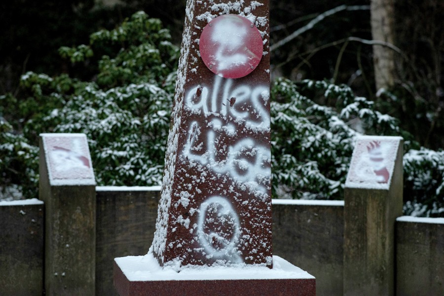
[[[95,295],[96,186],[50,185],[40,138],[39,199],[45,202],[46,295]]]

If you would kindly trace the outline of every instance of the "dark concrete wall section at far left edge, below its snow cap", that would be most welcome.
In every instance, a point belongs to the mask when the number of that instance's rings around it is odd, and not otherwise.
[[[43,207],[0,206],[0,295],[42,295]]]

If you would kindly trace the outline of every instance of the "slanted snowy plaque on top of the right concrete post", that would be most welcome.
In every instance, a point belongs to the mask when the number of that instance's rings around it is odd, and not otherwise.
[[[360,136],[350,163],[346,187],[389,189],[402,137]]]

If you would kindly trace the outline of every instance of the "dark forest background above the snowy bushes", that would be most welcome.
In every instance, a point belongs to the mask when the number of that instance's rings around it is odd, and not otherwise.
[[[339,5],[370,5],[370,0],[271,0],[271,44]],[[25,98],[20,75],[28,71],[67,73],[94,79],[97,63],[86,66],[61,59],[61,46],[87,44],[99,29],[113,29],[138,10],[162,20],[180,44],[185,0],[17,0],[0,4],[0,96]],[[377,96],[371,40],[370,10],[341,11],[271,52],[273,77],[327,79],[348,84],[377,108],[400,119],[422,146],[444,147],[444,1],[394,0],[395,84]],[[347,39],[348,38],[348,39]],[[99,59],[100,57],[93,57]],[[85,70],[86,69],[86,70]],[[89,70],[88,70],[89,69]],[[329,102],[322,102],[329,104]],[[8,120],[8,114],[2,114]]]

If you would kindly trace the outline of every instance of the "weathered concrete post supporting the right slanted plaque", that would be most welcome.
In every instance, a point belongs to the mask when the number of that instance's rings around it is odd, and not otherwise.
[[[345,187],[346,296],[395,293],[395,221],[403,211],[402,140],[394,162],[388,189]]]

